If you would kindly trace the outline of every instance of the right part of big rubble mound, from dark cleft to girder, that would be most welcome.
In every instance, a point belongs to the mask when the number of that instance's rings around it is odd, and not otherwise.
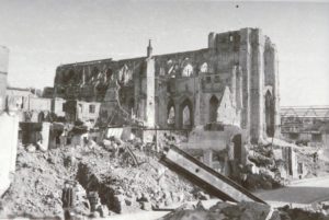
[[[87,190],[97,190],[102,204],[117,213],[136,208],[163,208],[193,199],[192,185],[180,181],[181,177],[159,164],[157,158],[141,151],[135,153],[138,166],[121,164],[123,160],[111,164],[84,158],[77,180]]]

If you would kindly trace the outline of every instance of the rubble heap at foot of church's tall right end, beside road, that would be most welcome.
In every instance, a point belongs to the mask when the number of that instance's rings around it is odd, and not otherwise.
[[[284,148],[292,148],[298,166],[291,167],[283,158]],[[328,175],[329,163],[319,159],[319,150],[309,147],[284,146],[284,142],[254,144],[247,149],[247,165],[242,174],[247,175],[243,186],[248,189],[271,189],[285,185],[292,178]],[[290,170],[293,170],[292,175]]]

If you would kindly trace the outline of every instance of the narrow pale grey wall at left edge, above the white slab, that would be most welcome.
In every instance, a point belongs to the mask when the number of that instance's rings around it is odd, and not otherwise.
[[[9,49],[0,46],[0,113],[5,108],[8,62]]]

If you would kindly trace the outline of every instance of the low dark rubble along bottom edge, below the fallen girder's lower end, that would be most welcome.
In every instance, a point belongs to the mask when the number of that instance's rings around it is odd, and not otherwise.
[[[322,212],[283,207],[273,209],[268,205],[242,201],[239,204],[217,202],[209,209],[202,202],[196,207],[181,207],[160,220],[328,220]]]

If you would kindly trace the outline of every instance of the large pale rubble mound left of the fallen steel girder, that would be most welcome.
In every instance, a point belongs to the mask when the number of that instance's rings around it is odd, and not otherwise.
[[[0,217],[63,217],[61,189],[65,181],[76,183],[76,212],[90,212],[88,195],[98,193],[95,216],[169,206],[193,198],[193,187],[164,169],[154,155],[134,150],[140,165],[132,166],[123,152],[93,146],[65,147],[47,152],[19,148],[16,172],[0,200]]]

